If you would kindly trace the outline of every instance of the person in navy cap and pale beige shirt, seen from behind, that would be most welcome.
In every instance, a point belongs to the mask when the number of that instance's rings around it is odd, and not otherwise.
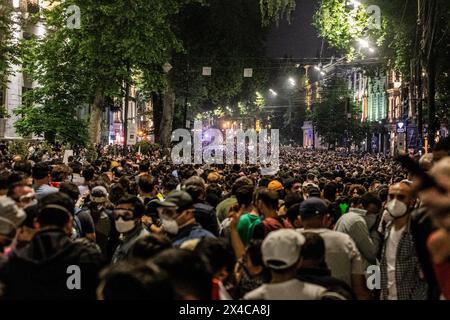
[[[301,232],[317,233],[325,241],[325,262],[331,275],[352,287],[358,299],[369,299],[361,254],[349,235],[326,228],[329,214],[325,202],[316,197],[303,201],[300,219]]]

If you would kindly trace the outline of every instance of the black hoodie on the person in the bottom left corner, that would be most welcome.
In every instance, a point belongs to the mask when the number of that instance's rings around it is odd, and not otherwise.
[[[74,242],[63,230],[52,228],[38,232],[27,246],[9,255],[0,281],[6,285],[6,299],[95,299],[102,266],[94,244]],[[69,289],[77,279],[81,289]]]

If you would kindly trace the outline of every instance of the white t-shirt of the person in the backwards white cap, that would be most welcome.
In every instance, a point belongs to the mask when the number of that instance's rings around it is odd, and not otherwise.
[[[320,300],[324,287],[292,279],[281,283],[268,283],[250,291],[244,300]]]

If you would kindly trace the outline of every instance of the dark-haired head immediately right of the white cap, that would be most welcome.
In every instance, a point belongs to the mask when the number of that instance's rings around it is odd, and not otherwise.
[[[323,268],[325,263],[325,241],[314,232],[304,232],[301,268]]]

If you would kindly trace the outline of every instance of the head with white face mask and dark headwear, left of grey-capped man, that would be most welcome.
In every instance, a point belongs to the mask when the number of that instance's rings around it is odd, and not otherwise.
[[[126,195],[122,197],[114,209],[116,229],[119,233],[133,231],[141,221],[145,213],[145,207],[136,196]]]

